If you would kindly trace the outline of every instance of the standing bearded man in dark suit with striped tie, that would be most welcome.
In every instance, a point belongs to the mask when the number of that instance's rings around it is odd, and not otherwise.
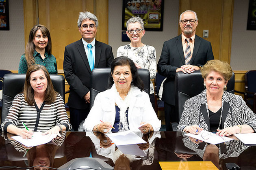
[[[174,79],[176,72],[190,74],[208,61],[213,60],[212,45],[209,41],[195,35],[198,18],[194,11],[187,10],[180,15],[182,34],[165,41],[157,64],[158,73],[167,77],[163,85],[162,100],[165,102],[166,130],[171,129],[170,122],[178,122],[175,111]]]

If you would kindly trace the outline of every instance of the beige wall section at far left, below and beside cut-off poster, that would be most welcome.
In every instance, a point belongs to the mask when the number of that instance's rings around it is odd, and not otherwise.
[[[0,30],[0,69],[18,70],[24,53],[23,0],[9,0],[10,30]]]

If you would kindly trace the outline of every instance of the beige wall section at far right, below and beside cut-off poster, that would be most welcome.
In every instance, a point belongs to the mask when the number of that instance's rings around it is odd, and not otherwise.
[[[246,30],[249,0],[234,1],[230,65],[233,70],[256,70],[256,30]]]

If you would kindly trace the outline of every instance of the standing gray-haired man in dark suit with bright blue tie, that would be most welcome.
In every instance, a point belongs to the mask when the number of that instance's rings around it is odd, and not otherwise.
[[[95,40],[97,17],[90,12],[80,12],[77,23],[82,38],[65,47],[63,62],[70,91],[67,105],[75,131],[90,110],[91,71],[93,68],[110,67],[114,60],[111,46]]]

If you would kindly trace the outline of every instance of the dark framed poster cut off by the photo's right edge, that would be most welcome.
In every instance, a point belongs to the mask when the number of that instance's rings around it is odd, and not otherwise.
[[[249,1],[247,30],[256,30],[256,0]]]

